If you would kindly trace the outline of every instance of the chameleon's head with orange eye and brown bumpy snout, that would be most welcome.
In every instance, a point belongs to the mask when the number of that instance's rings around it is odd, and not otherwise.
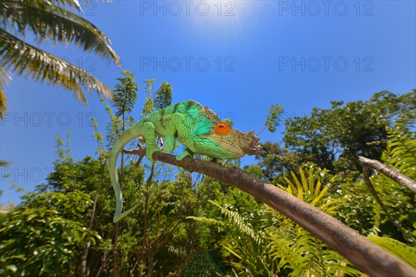
[[[237,159],[245,154],[257,154],[261,150],[260,139],[254,135],[253,131],[244,133],[233,129],[225,122],[217,123],[211,128],[209,134],[201,137],[209,139],[211,141],[209,144],[214,145],[209,152],[205,153],[211,158]]]

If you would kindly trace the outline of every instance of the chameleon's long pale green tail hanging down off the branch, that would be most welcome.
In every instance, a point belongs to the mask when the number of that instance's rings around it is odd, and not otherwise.
[[[135,139],[139,136],[139,125],[135,124],[129,129],[127,129],[119,139],[113,145],[113,148],[110,152],[110,157],[108,159],[108,168],[110,170],[110,179],[112,182],[112,186],[114,189],[114,193],[116,194],[116,213],[114,214],[113,222],[119,222],[119,220],[123,219],[126,215],[131,213],[139,204],[133,206],[128,211],[121,213],[123,208],[123,195],[121,194],[121,188],[119,183],[119,175],[117,175],[117,157],[119,157],[119,152],[123,150],[124,145],[126,145],[132,139]]]

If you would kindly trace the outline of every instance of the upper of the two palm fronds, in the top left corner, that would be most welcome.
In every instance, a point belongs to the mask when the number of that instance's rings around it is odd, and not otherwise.
[[[76,8],[79,6],[76,0],[57,2]],[[92,51],[120,66],[119,56],[110,47],[110,39],[100,29],[83,17],[50,1],[2,0],[0,22],[8,28],[17,26],[17,32],[23,35],[30,28],[40,42],[44,39],[65,44],[74,42],[79,48]]]

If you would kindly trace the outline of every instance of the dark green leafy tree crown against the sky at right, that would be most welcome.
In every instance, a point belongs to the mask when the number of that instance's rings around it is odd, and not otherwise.
[[[332,101],[331,109],[312,109],[308,117],[286,120],[286,148],[311,155],[320,168],[333,173],[361,170],[358,155],[380,159],[388,141],[386,126],[399,118],[406,125],[414,117],[416,91],[397,96],[388,91],[375,93],[370,100]]]

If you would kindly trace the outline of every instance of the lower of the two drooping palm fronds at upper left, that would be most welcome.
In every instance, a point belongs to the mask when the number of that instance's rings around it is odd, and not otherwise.
[[[62,86],[75,93],[76,98],[87,104],[81,87],[95,89],[101,96],[112,98],[113,93],[103,82],[87,71],[66,62],[42,49],[26,44],[21,39],[0,28],[0,58],[5,64],[1,73],[12,68],[18,75],[34,78],[40,82]]]

